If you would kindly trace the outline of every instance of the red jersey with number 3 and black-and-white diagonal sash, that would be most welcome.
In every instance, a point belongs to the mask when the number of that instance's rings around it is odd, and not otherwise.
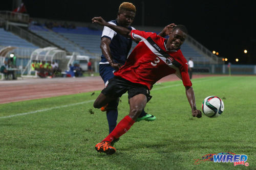
[[[187,60],[180,50],[168,51],[166,49],[167,39],[156,33],[139,30],[132,30],[131,37],[141,41],[125,64],[114,72],[115,76],[143,84],[151,90],[153,84],[161,78],[176,74],[184,86],[192,86],[187,72]]]

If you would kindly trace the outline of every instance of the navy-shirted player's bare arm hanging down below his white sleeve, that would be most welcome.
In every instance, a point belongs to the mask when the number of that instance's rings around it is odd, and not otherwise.
[[[110,43],[111,43],[111,40],[109,38],[103,37],[101,39],[100,48],[101,48],[102,54],[105,56],[106,60],[108,60],[110,65],[116,70],[118,70],[119,68],[122,67],[122,64],[115,63],[113,61],[110,53]]]

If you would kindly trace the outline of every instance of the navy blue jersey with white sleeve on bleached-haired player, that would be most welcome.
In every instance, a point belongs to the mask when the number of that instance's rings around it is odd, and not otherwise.
[[[116,20],[109,21],[109,23],[118,26]],[[128,29],[135,30],[133,27],[128,27]],[[131,50],[133,40],[118,34],[109,27],[104,27],[101,38],[103,37],[111,40],[110,52],[114,62],[124,64]],[[100,64],[109,64],[103,54],[101,55]]]

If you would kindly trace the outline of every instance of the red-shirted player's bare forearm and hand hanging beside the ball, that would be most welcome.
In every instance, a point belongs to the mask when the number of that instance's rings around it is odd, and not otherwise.
[[[198,118],[202,117],[201,111],[197,110],[197,107],[196,107],[196,100],[195,100],[195,94],[194,94],[193,88],[192,87],[185,87],[185,88],[186,88],[187,100],[188,100],[188,103],[190,104],[193,117],[198,117]]]

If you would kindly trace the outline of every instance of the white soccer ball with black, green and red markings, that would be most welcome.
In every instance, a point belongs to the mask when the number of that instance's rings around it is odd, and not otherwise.
[[[202,110],[208,117],[218,117],[224,111],[224,103],[219,97],[211,95],[204,99]]]

